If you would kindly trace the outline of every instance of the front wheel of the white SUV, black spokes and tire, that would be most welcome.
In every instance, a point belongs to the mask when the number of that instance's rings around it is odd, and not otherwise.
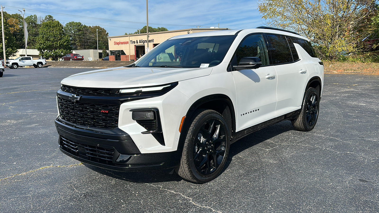
[[[193,183],[215,179],[229,154],[230,130],[224,117],[214,110],[199,110],[185,133],[182,158],[175,171]]]

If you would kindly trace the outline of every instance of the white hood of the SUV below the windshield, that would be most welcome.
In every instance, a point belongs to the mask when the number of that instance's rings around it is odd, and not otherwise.
[[[207,68],[115,67],[82,72],[64,78],[61,84],[92,88],[154,86],[210,75]]]

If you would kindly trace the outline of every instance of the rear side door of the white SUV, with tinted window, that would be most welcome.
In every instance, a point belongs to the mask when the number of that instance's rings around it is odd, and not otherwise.
[[[276,116],[301,108],[305,85],[308,82],[307,61],[300,60],[290,37],[267,34],[277,73]]]

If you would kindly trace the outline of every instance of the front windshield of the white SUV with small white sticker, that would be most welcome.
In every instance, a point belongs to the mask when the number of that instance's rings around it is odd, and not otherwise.
[[[213,67],[224,59],[235,37],[205,36],[167,40],[153,48],[135,66]]]

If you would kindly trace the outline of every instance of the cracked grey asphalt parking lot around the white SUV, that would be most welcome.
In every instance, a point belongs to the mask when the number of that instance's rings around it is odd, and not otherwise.
[[[379,76],[326,74],[316,127],[272,125],[232,144],[225,170],[193,184],[114,172],[58,149],[55,92],[91,69],[6,69],[0,78],[0,212],[377,212]]]

